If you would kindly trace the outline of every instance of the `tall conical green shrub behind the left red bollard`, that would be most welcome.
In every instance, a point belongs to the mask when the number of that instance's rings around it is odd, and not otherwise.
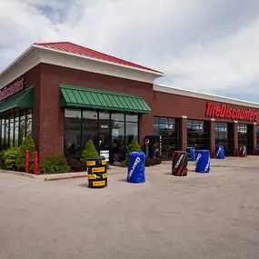
[[[25,137],[16,157],[15,166],[20,171],[25,171],[25,151],[29,151],[29,161],[30,164],[33,164],[35,160],[35,141],[31,134]]]

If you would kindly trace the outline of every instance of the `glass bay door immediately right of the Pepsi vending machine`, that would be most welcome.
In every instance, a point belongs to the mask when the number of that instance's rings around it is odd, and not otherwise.
[[[179,120],[167,117],[153,117],[153,134],[161,136],[161,155],[171,159],[174,150],[179,149]]]

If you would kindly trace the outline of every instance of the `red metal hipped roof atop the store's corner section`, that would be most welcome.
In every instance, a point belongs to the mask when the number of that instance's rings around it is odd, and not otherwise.
[[[91,57],[91,58],[95,58],[95,59],[99,59],[99,60],[103,60],[103,61],[107,61],[107,62],[112,62],[112,63],[118,64],[118,65],[131,66],[131,67],[134,67],[134,68],[139,68],[139,69],[143,69],[143,70],[147,70],[147,71],[151,71],[151,72],[155,72],[155,73],[160,73],[161,75],[163,75],[162,72],[159,72],[159,71],[156,71],[154,69],[145,67],[143,65],[136,65],[134,63],[125,61],[125,60],[117,58],[115,56],[106,55],[104,53],[95,51],[93,49],[86,48],[85,46],[75,45],[75,44],[70,43],[70,42],[35,43],[35,45],[44,46],[44,47],[47,47],[47,48],[55,49],[55,50],[58,50],[58,51],[64,51],[66,53],[71,53],[71,54],[75,54],[75,55],[88,56],[88,57]]]

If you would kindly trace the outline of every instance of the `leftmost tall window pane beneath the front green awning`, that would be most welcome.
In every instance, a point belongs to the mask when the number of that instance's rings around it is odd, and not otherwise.
[[[82,150],[81,111],[65,109],[65,155],[79,157]]]

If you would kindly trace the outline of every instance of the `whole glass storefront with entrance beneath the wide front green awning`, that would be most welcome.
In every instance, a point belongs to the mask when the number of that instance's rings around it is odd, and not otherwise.
[[[65,109],[65,155],[79,157],[89,139],[111,163],[120,162],[125,146],[138,140],[138,115]]]

